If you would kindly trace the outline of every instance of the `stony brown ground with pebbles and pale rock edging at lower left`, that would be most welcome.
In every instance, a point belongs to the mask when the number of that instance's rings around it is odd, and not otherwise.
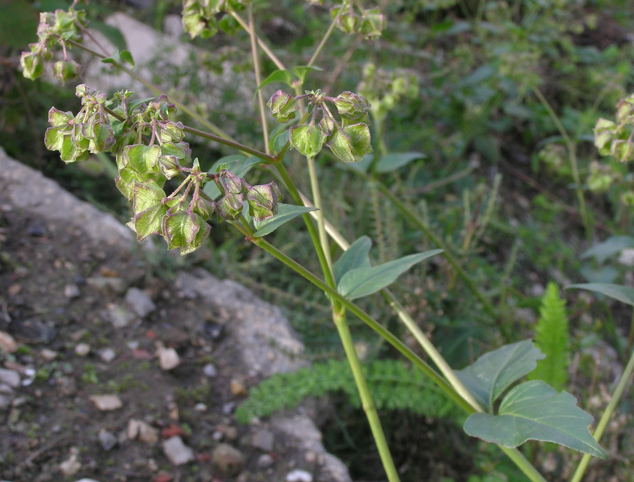
[[[305,365],[277,308],[159,277],[115,219],[1,150],[0,171],[0,479],[349,481],[301,412],[233,417]]]

